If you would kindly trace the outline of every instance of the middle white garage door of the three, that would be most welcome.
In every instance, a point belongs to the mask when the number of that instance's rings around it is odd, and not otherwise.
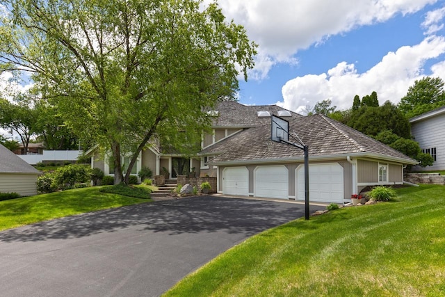
[[[254,171],[254,195],[289,199],[289,170],[286,166],[258,166]]]

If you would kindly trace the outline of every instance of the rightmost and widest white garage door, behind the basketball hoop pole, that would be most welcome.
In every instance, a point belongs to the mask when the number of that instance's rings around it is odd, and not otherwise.
[[[297,169],[297,198],[305,200],[305,168]],[[343,203],[343,167],[339,163],[309,165],[309,200]]]

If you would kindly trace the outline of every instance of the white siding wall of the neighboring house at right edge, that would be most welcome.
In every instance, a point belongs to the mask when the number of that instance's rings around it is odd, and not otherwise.
[[[436,161],[424,170],[445,170],[445,115],[412,123],[411,134],[421,149],[436,147]]]

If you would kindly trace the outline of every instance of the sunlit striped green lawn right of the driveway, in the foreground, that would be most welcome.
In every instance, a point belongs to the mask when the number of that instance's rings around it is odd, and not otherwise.
[[[397,193],[253,236],[165,296],[445,296],[445,187]]]

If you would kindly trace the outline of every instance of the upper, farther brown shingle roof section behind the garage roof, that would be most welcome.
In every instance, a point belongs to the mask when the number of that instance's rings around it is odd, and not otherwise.
[[[216,107],[218,117],[213,119],[213,127],[254,127],[264,125],[270,118],[259,118],[258,111],[270,111],[277,115],[278,111],[286,111],[277,105],[243,105],[238,102],[220,102]],[[291,117],[301,118],[302,115],[289,111]],[[286,119],[287,119],[286,118]]]

